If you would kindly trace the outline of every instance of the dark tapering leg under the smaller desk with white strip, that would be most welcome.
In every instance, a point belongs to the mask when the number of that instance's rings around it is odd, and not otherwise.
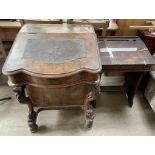
[[[125,73],[125,91],[128,97],[129,107],[133,106],[133,98],[138,86],[146,72],[127,72]]]

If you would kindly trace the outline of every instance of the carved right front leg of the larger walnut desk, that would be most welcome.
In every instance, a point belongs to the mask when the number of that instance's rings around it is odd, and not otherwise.
[[[92,101],[94,101],[94,95],[90,92],[84,101],[84,111],[85,111],[85,128],[91,128],[93,125],[93,120],[95,118],[95,113],[93,111]]]

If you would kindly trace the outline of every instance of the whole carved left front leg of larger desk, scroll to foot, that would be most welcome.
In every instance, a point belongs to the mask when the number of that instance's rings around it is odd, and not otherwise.
[[[30,131],[34,133],[38,131],[38,126],[36,124],[37,113],[33,109],[30,98],[26,97],[24,89],[25,86],[16,86],[13,88],[13,91],[15,92],[16,98],[19,103],[28,105],[28,126],[30,128]]]

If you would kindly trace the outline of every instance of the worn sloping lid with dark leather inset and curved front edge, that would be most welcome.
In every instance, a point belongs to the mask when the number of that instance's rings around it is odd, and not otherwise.
[[[24,72],[41,77],[100,70],[97,39],[90,25],[24,25],[3,66],[6,75]]]

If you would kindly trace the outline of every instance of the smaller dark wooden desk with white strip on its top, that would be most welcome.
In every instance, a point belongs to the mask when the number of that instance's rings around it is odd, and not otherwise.
[[[133,105],[135,92],[143,76],[150,71],[155,60],[143,41],[135,37],[98,38],[102,72],[125,72],[124,90],[129,106]],[[107,90],[101,86],[101,91]]]

